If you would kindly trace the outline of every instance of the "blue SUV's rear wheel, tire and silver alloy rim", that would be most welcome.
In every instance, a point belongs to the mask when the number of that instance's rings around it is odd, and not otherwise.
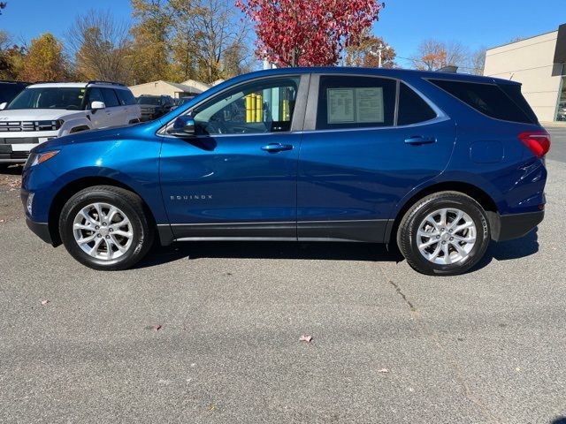
[[[397,244],[409,265],[428,275],[462,274],[486,254],[489,241],[486,211],[457,192],[417,201],[397,231]]]

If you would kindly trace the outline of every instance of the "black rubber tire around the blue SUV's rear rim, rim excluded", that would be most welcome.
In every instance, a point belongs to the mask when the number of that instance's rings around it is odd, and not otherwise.
[[[424,218],[441,208],[457,208],[462,210],[476,226],[476,242],[470,253],[461,261],[452,264],[439,264],[429,261],[418,249],[417,231]],[[409,265],[426,275],[455,276],[463,274],[486,254],[491,240],[489,222],[486,211],[470,196],[458,192],[440,192],[426,196],[417,201],[403,216],[397,231],[397,245]],[[449,242],[448,242],[449,243]],[[452,247],[455,252],[454,247]]]

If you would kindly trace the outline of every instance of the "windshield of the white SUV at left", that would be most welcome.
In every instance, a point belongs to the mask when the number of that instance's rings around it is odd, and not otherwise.
[[[26,88],[6,110],[14,109],[65,109],[82,110],[85,88],[80,87],[37,87]]]

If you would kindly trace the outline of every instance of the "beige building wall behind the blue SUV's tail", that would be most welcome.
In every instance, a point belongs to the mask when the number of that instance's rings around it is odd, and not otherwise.
[[[566,24],[486,52],[484,75],[523,84],[540,121],[566,120]]]

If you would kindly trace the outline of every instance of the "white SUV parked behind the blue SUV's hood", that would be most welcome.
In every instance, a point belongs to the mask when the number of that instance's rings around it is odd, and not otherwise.
[[[140,122],[134,95],[106,81],[38,83],[0,104],[0,166],[25,163],[43,141],[96,128]]]

